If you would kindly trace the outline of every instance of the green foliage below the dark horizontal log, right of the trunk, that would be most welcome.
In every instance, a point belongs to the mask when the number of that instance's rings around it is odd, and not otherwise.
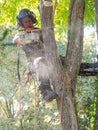
[[[95,93],[94,77],[78,77],[76,98],[80,130],[94,127]]]

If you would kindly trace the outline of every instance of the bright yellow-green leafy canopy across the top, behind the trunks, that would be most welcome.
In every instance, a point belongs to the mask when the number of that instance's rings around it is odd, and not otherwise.
[[[53,0],[54,7],[56,3],[54,22],[62,28],[66,27],[68,23],[69,2],[70,0],[57,0],[57,2]],[[0,24],[15,24],[16,16],[21,8],[33,10],[39,20],[39,3],[40,0],[0,0]],[[95,24],[94,16],[93,0],[85,0],[85,24]]]

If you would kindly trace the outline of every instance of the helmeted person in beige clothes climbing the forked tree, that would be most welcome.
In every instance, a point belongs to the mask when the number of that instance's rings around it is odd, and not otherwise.
[[[45,61],[44,44],[41,30],[35,28],[36,17],[29,9],[21,9],[17,16],[18,26],[22,28],[13,42],[24,50],[28,61],[28,75],[35,73],[39,80],[39,91],[45,101],[49,102],[58,96],[52,90],[49,71]]]

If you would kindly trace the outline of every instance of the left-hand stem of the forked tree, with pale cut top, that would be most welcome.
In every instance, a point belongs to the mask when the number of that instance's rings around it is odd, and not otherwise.
[[[42,24],[43,42],[45,44],[45,58],[48,64],[49,75],[54,83],[54,89],[56,93],[61,95],[61,82],[62,78],[62,64],[60,63],[59,56],[57,54],[56,41],[54,36],[54,24],[53,24],[53,7],[52,1],[41,1],[40,17]],[[58,80],[59,79],[59,80]],[[56,87],[55,87],[56,86]]]

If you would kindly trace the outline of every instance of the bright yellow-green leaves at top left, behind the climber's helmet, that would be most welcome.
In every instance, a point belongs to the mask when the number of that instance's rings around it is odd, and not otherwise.
[[[2,17],[0,23],[15,24],[16,16],[21,8],[37,10],[38,7],[36,5],[38,5],[38,0],[29,0],[28,2],[26,0],[2,0],[0,2],[0,15]]]

